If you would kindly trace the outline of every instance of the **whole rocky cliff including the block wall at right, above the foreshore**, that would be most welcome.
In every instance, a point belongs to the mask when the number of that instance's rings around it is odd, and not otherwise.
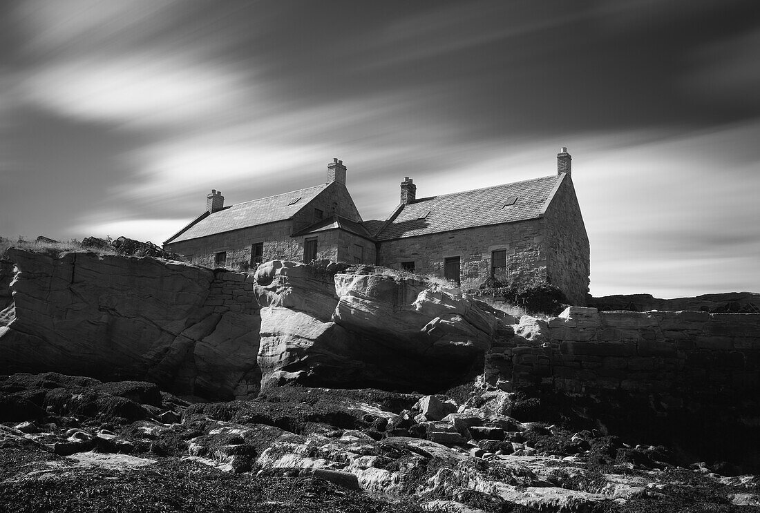
[[[435,393],[482,375],[516,393],[502,413],[516,404],[760,467],[760,449],[746,447],[760,435],[757,314],[572,307],[518,321],[385,268],[273,261],[252,275],[87,253],[11,258],[0,372],[140,379],[212,400],[280,385]]]

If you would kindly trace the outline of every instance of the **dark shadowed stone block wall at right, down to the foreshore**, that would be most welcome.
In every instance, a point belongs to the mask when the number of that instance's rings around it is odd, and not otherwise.
[[[758,314],[571,307],[524,316],[486,362],[486,379],[542,405],[537,419],[760,465]]]

